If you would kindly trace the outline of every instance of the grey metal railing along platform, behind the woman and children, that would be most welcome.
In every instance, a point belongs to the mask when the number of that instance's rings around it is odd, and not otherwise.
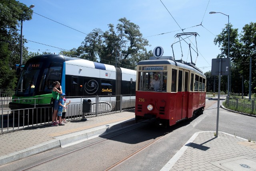
[[[91,111],[88,113],[83,113],[84,98],[92,99],[90,104]],[[74,100],[74,97],[68,98],[67,102],[69,100],[72,101],[72,99]],[[135,107],[135,96],[131,95],[87,96],[76,97],[75,99],[77,102],[71,102],[66,109],[66,120],[112,114],[134,109]],[[33,100],[36,101],[36,98],[33,98]],[[0,102],[0,129],[2,133],[52,123],[52,107],[50,106],[35,107],[32,104],[31,108],[11,110],[8,108],[8,103],[11,102],[11,99],[1,99]]]

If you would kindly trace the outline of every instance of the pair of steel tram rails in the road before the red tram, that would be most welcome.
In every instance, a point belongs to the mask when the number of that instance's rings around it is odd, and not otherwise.
[[[121,136],[121,135],[123,135],[123,134],[126,134],[126,133],[128,133],[128,132],[137,130],[137,129],[139,129],[139,128],[143,128],[143,127],[145,127],[145,126],[148,126],[149,124],[152,124],[152,123],[149,122],[149,123],[146,124],[146,125],[142,125],[142,126],[139,126],[139,127],[136,127],[136,128],[132,128],[132,129],[130,129],[130,130],[121,132],[121,133],[116,134],[116,135],[114,135],[114,136],[110,136],[109,138],[106,138],[106,139],[104,139],[104,140],[100,140],[100,141],[97,141],[97,142],[94,142],[94,143],[90,143],[89,145],[86,145],[86,146],[84,146],[84,147],[80,147],[80,148],[75,149],[75,150],[73,150],[73,151],[66,152],[66,153],[64,153],[64,154],[62,154],[62,155],[59,155],[59,156],[57,156],[57,157],[53,157],[52,159],[48,159],[48,160],[46,160],[46,161],[37,163],[37,164],[32,165],[32,166],[30,166],[30,167],[21,169],[20,171],[28,171],[28,170],[33,169],[33,168],[36,168],[36,167],[38,167],[38,166],[40,166],[40,165],[44,165],[44,164],[49,163],[49,162],[51,162],[51,161],[55,161],[55,160],[57,160],[57,159],[60,159],[60,158],[62,158],[62,157],[64,157],[64,156],[67,156],[67,155],[70,155],[70,154],[72,154],[72,153],[78,152],[78,151],[80,151],[80,150],[86,149],[86,148],[91,147],[91,146],[93,146],[93,145],[96,145],[96,144],[98,144],[98,143],[102,143],[102,142],[105,142],[105,141],[107,141],[107,140],[111,140],[112,138],[116,138],[116,137],[118,137],[118,136]],[[168,133],[169,133],[169,132],[168,132]],[[168,134],[168,133],[167,133],[167,134]],[[163,135],[163,136],[164,136],[164,135]],[[146,147],[150,146],[152,143],[156,142],[157,140],[159,140],[159,139],[162,138],[163,136],[157,138],[157,139],[154,140],[153,142],[150,142],[150,143],[148,143],[147,145],[145,145],[144,147],[138,149],[136,152],[132,153],[132,154],[129,155],[128,157],[125,157],[125,158],[122,159],[121,161],[119,161],[119,162],[117,162],[116,164],[114,164],[114,166],[117,166],[118,164],[120,164],[120,163],[124,162],[125,160],[129,159],[130,157],[132,157],[132,156],[135,155],[136,153],[142,151],[142,150],[145,149]],[[111,166],[111,168],[113,168],[113,166]],[[109,167],[107,170],[109,170],[109,169],[111,169],[111,168]],[[106,170],[106,171],[107,171],[107,170]]]

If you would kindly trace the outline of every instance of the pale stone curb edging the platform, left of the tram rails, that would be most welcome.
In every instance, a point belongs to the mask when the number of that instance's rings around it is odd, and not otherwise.
[[[112,124],[108,124],[106,126],[99,126],[96,128],[91,128],[88,130],[67,134],[64,136],[56,137],[56,140],[51,140],[48,142],[44,142],[38,145],[34,145],[33,147],[29,147],[26,149],[22,149],[20,151],[16,151],[14,153],[10,153],[8,155],[4,155],[0,157],[0,166],[23,159],[24,157],[28,157],[31,155],[35,155],[38,153],[42,153],[44,151],[48,151],[54,148],[58,147],[68,147],[70,145],[74,145],[80,142],[84,142],[86,140],[90,140],[92,138],[96,138],[101,135],[106,135],[114,131],[121,130],[123,128],[128,128],[131,126],[142,126],[146,125],[144,122],[139,122],[136,124],[135,118],[129,119],[129,120],[123,120],[120,122],[115,122]]]

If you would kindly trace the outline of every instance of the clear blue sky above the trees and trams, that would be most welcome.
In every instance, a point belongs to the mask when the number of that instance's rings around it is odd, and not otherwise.
[[[23,22],[22,34],[28,43],[28,51],[44,51],[58,54],[61,50],[78,48],[86,34],[95,28],[108,30],[108,24],[116,25],[126,18],[140,27],[142,37],[149,41],[147,51],[161,46],[163,56],[173,56],[171,45],[178,39],[177,33],[197,32],[196,41],[186,41],[198,49],[198,57],[192,50],[192,62],[204,73],[211,70],[212,59],[220,47],[214,38],[229,22],[241,33],[250,22],[256,22],[255,0],[20,0],[26,6],[34,4],[32,20]],[[209,14],[209,12],[222,12]],[[39,15],[38,15],[39,14]],[[54,22],[54,21],[56,22]],[[58,23],[57,23],[58,22]],[[201,26],[197,26],[200,25]],[[65,25],[65,26],[64,26]],[[194,26],[194,27],[193,27]],[[164,33],[164,34],[162,34]],[[183,37],[185,38],[185,37]],[[35,43],[37,42],[37,43]],[[48,46],[47,46],[48,45]],[[175,59],[191,62],[188,45],[173,45]],[[153,55],[152,55],[153,56]]]

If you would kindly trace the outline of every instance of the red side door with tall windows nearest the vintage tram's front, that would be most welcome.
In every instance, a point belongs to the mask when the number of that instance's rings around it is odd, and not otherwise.
[[[176,106],[176,121],[186,118],[188,113],[188,78],[189,71],[179,69],[178,92]]]

